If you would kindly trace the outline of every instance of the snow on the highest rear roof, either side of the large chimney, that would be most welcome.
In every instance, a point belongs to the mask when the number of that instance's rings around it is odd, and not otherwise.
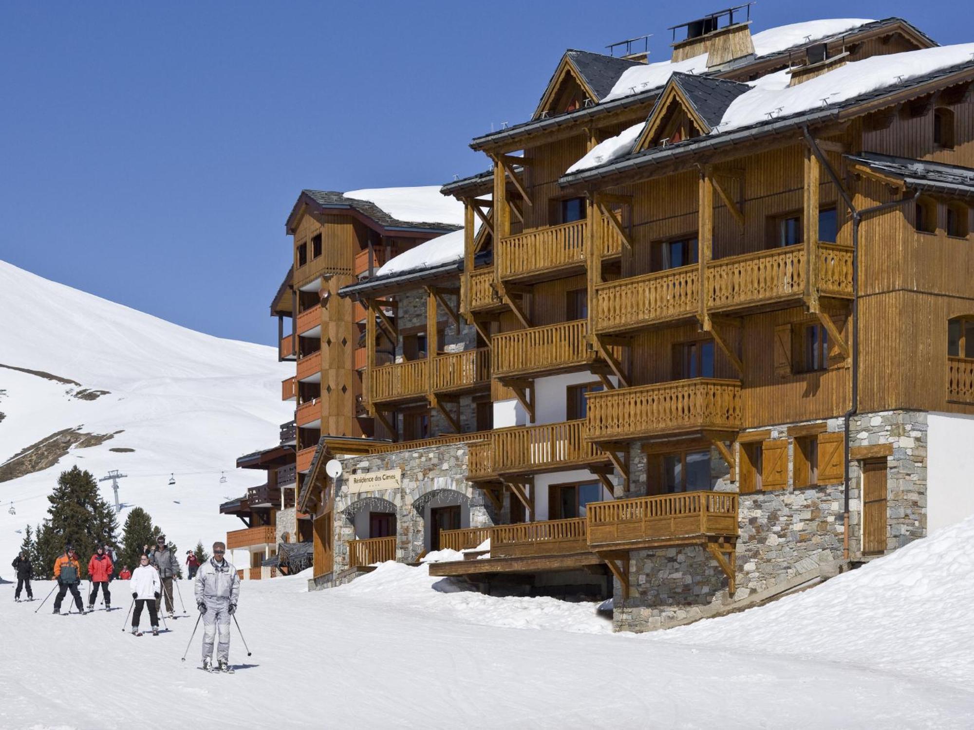
[[[869,22],[865,18],[828,18],[823,20],[808,20],[794,22],[768,28],[752,36],[755,55],[762,56],[787,51],[795,46],[813,43],[823,38],[829,38],[857,28]],[[677,61],[658,61],[627,68],[619,76],[612,91],[602,99],[602,102],[631,96],[634,93],[652,91],[666,85],[674,71],[691,74],[705,73],[707,70],[707,54],[695,55],[693,58]]]

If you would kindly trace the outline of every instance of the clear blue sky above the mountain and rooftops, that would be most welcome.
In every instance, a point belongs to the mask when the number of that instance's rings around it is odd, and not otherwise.
[[[660,6],[665,5],[666,8]],[[493,0],[0,5],[0,259],[222,337],[273,344],[302,188],[440,184],[524,121],[566,48],[726,7]],[[962,10],[961,10],[962,9]],[[964,3],[762,0],[754,29],[908,18],[974,40]]]

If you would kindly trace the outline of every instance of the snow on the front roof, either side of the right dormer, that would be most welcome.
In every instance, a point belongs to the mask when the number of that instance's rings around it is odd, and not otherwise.
[[[918,76],[965,63],[972,57],[974,43],[874,55],[846,63],[794,87],[788,86],[791,77],[787,69],[778,71],[751,82],[751,91],[731,101],[720,124],[710,133],[721,134],[731,129],[839,104],[870,91],[896,86]],[[640,122],[600,142],[569,167],[566,174],[611,163],[630,154],[645,126],[646,122]]]

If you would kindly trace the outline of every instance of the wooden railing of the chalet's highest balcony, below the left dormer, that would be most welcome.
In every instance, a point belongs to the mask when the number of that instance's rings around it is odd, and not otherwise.
[[[495,251],[502,279],[585,262],[587,221],[546,226],[501,239]]]

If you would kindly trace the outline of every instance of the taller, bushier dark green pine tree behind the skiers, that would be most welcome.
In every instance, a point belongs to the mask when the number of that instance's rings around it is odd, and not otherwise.
[[[70,544],[78,555],[82,577],[98,545],[114,542],[118,523],[115,512],[98,493],[97,482],[77,466],[61,472],[54,493],[48,496],[48,518],[37,536],[44,570],[53,572],[57,556]]]

